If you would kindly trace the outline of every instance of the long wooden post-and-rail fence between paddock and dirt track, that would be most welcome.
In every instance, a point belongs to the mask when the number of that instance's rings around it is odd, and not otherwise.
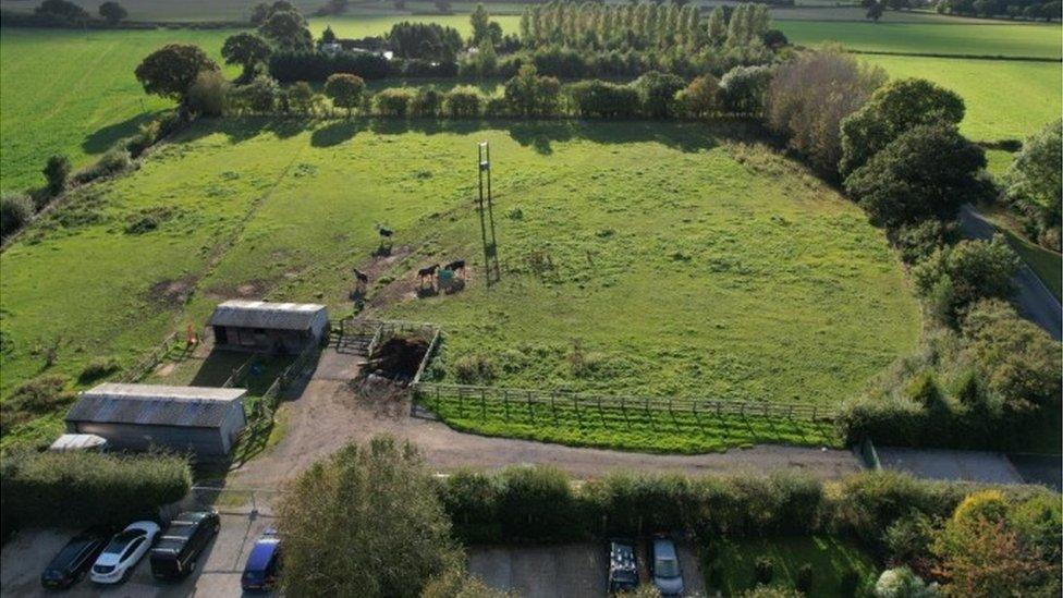
[[[700,418],[756,418],[829,423],[834,410],[798,403],[725,401],[679,396],[609,396],[567,391],[542,391],[468,385],[418,382],[415,390],[428,404],[450,404],[463,416],[506,422],[554,423],[560,418],[618,413],[622,417],[665,414]]]

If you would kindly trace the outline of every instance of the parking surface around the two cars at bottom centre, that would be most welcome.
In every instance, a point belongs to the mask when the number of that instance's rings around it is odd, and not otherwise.
[[[646,575],[645,551],[639,571]],[[705,596],[705,578],[697,554],[679,546],[685,596]],[[468,568],[489,586],[522,598],[603,597],[607,587],[603,542],[547,546],[475,546],[468,550]],[[645,579],[644,579],[645,581]]]

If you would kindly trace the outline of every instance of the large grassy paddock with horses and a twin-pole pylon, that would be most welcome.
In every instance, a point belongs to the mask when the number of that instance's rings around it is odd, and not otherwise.
[[[749,138],[662,123],[199,124],[0,256],[2,391],[75,378],[99,355],[131,364],[227,297],[342,317],[358,267],[370,313],[444,328],[442,381],[479,356],[497,386],[829,407],[915,345],[917,305],[881,231]],[[481,139],[503,269],[491,288],[473,203]],[[145,216],[160,223],[137,234]],[[387,257],[371,255],[378,223],[396,231]],[[460,257],[464,291],[417,298],[418,267]],[[653,448],[636,432],[610,441]]]

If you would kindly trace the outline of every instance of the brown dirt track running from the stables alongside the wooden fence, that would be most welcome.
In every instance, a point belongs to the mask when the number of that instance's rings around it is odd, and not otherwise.
[[[786,468],[838,478],[860,469],[858,461],[848,451],[807,447],[765,444],[726,453],[669,455],[463,434],[440,422],[411,417],[408,402],[357,396],[347,382],[357,374],[357,361],[356,356],[340,354],[333,349],[323,353],[298,399],[282,407],[288,426],[284,438],[268,454],[234,472],[230,484],[276,486],[346,442],[366,440],[381,432],[418,444],[429,465],[440,472],[463,466],[491,469],[542,463],[557,465],[578,478],[598,477],[611,469],[707,474]]]

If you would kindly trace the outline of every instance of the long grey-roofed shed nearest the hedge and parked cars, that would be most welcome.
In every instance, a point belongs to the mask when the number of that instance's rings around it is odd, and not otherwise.
[[[66,414],[66,431],[96,435],[118,450],[160,447],[221,456],[247,424],[246,393],[239,388],[100,385],[81,393]]]

